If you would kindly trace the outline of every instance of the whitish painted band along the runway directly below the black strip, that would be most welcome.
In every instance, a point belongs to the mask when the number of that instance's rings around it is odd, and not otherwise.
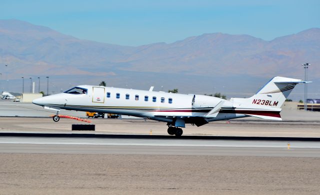
[[[253,148],[320,148],[320,142],[240,141],[240,140],[148,140],[102,138],[28,138],[1,137],[0,144],[114,145],[114,146],[191,146]]]

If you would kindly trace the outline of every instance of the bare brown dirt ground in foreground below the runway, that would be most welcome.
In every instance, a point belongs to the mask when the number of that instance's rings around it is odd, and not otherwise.
[[[0,194],[318,195],[319,158],[0,154]]]

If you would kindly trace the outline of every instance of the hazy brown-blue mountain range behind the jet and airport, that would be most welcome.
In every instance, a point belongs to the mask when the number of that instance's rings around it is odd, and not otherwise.
[[[205,33],[173,43],[133,47],[82,40],[21,20],[0,20],[0,64],[8,64],[0,68],[0,80],[2,89],[11,91],[21,91],[21,77],[49,76],[50,88],[55,88],[50,91],[55,92],[105,80],[117,87],[155,85],[159,90],[163,86],[163,90],[180,88],[185,93],[247,96],[276,75],[303,79],[300,64],[305,62],[312,64],[309,78],[316,86],[319,54],[320,28],[270,41]],[[8,86],[4,77],[9,79]],[[45,85],[42,81],[41,88]],[[320,96],[316,87],[313,92]]]

